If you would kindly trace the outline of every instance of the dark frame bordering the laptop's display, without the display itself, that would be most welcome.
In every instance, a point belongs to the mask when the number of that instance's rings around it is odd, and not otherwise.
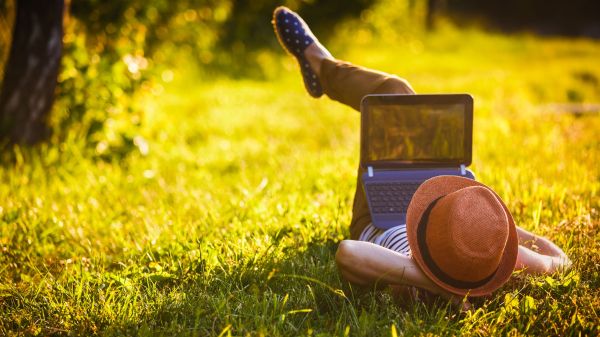
[[[374,106],[385,105],[450,105],[461,104],[464,106],[464,158],[447,161],[397,161],[379,160],[367,161],[368,158],[368,123],[370,109]],[[361,111],[361,136],[360,136],[360,166],[380,169],[393,168],[435,168],[435,167],[459,167],[460,165],[471,165],[473,155],[473,97],[469,94],[420,94],[420,95],[366,95],[360,104]]]

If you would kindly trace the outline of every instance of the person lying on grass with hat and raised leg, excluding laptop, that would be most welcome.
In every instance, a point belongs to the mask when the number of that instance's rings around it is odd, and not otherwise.
[[[280,44],[298,61],[312,97],[325,93],[360,111],[368,94],[415,93],[398,76],[333,58],[304,20],[286,7],[275,9],[273,26]],[[336,253],[346,280],[418,287],[455,301],[491,294],[515,270],[552,273],[571,265],[554,243],[516,226],[492,189],[462,177],[425,181],[409,204],[406,224],[388,230],[372,225],[358,180],[350,233],[351,240],[342,241]]]

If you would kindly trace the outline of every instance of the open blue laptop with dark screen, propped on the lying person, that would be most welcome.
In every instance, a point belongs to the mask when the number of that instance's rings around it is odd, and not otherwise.
[[[367,95],[361,102],[361,180],[373,225],[406,223],[419,185],[435,176],[475,179],[468,94]]]

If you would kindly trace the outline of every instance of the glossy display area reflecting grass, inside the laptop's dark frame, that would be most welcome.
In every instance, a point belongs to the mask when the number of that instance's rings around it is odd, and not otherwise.
[[[465,158],[465,106],[372,106],[367,160],[453,162]]]

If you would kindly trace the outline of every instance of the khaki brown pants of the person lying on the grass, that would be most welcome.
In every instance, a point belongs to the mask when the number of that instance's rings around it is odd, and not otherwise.
[[[338,60],[323,60],[320,80],[329,98],[349,105],[359,112],[360,101],[365,95],[415,93],[410,84],[398,76]],[[371,214],[360,182],[363,172],[359,167],[350,223],[350,238],[353,240],[357,240],[363,229],[371,223]]]

